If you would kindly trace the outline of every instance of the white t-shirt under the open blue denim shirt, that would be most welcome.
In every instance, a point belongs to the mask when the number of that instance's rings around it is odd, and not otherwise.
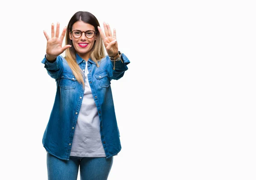
[[[84,98],[79,111],[70,156],[106,157],[99,129],[98,110],[88,81],[85,65]]]

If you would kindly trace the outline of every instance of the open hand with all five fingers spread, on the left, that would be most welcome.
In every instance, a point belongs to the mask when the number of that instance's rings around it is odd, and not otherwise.
[[[44,36],[47,39],[47,47],[46,47],[46,58],[49,61],[53,61],[58,55],[63,53],[67,48],[71,47],[71,45],[66,45],[62,47],[62,42],[65,37],[67,27],[65,26],[61,36],[59,37],[60,32],[60,23],[57,23],[56,33],[54,32],[54,24],[52,23],[52,37],[49,38],[47,33],[44,31]]]

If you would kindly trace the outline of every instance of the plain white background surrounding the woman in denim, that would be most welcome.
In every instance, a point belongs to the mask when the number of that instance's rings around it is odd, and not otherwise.
[[[51,23],[77,11],[116,28],[130,59],[111,81],[122,150],[108,180],[256,179],[253,0],[8,1],[1,15],[1,173],[47,180]]]

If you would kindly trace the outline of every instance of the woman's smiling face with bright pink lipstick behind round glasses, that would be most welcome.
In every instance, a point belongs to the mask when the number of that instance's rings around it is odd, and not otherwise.
[[[90,58],[90,51],[93,49],[94,42],[96,40],[96,35],[93,38],[87,38],[83,31],[93,30],[94,27],[88,23],[84,23],[83,21],[76,21],[73,24],[72,31],[80,30],[82,31],[82,35],[80,38],[74,38],[74,36],[69,33],[70,40],[73,41],[73,46],[76,49],[76,52],[79,54],[81,58],[84,60],[88,60]]]

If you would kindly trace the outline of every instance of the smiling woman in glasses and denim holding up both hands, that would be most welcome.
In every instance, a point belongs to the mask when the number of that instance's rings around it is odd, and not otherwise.
[[[79,167],[81,180],[106,180],[121,150],[110,84],[130,61],[118,51],[115,29],[112,35],[110,26],[103,26],[105,33],[90,12],[76,12],[60,37],[59,23],[56,32],[52,24],[51,38],[44,31],[42,63],[57,85],[43,136],[49,180],[76,180]]]

